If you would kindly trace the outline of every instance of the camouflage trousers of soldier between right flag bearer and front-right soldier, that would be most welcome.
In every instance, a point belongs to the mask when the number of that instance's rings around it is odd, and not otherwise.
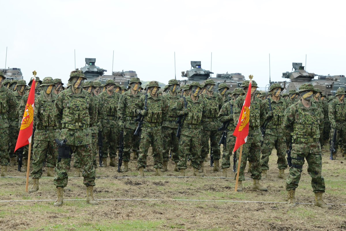
[[[272,154],[273,148],[276,149],[277,168],[286,169],[286,139],[282,136],[274,136],[271,134],[264,134],[262,145],[261,164],[262,170],[268,170],[269,156]]]

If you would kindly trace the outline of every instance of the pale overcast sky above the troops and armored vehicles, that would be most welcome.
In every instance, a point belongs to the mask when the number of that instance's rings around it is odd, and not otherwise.
[[[0,68],[21,68],[66,83],[84,59],[167,83],[190,61],[216,73],[240,72],[260,86],[281,81],[292,62],[320,75],[346,74],[344,1],[1,1]],[[212,52],[212,67],[211,67]]]

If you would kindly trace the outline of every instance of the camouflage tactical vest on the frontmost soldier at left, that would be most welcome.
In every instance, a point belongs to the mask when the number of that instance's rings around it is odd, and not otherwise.
[[[89,97],[91,97],[91,95]],[[89,128],[89,97],[85,94],[79,97],[71,97],[71,95],[67,94],[65,95],[65,99],[63,101],[63,117],[61,120],[62,128]]]

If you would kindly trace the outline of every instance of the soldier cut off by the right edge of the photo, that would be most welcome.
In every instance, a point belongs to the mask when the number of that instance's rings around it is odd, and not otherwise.
[[[333,154],[333,159],[337,157],[338,147],[340,146],[341,153],[343,156],[346,154],[346,102],[345,102],[345,89],[339,87],[336,91],[336,98],[329,103],[328,115],[331,124],[331,136],[336,129],[336,143],[335,150]]]

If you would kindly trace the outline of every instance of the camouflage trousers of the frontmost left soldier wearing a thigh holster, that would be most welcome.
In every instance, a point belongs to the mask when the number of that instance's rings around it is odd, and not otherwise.
[[[95,168],[93,165],[93,154],[91,145],[70,146],[75,150],[75,155],[81,161],[81,168],[83,169],[83,184],[85,186],[95,186]],[[71,159],[62,158],[60,162],[56,162],[54,185],[56,187],[66,187],[69,177],[67,176],[67,168],[69,167]]]

